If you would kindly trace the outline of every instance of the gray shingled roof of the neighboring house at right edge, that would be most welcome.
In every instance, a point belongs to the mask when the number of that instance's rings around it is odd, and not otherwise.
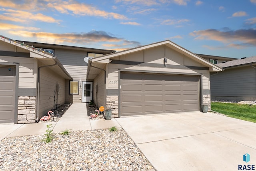
[[[222,62],[216,65],[222,68],[231,68],[231,67],[250,65],[250,64],[256,64],[256,56],[252,56],[249,58],[241,58],[238,60],[232,60],[228,62]]]

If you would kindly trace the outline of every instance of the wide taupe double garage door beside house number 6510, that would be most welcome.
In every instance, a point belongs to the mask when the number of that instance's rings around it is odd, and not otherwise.
[[[199,111],[199,76],[121,73],[120,115]]]

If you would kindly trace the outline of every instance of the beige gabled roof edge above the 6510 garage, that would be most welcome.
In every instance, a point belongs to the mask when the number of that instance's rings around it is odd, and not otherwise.
[[[125,55],[125,54],[130,54],[130,53],[134,53],[134,52],[138,52],[138,51],[142,51],[142,50],[146,50],[146,49],[149,49],[149,48],[154,48],[156,46],[162,46],[162,45],[168,46],[168,47],[176,50],[177,52],[180,52],[181,54],[184,54],[184,55],[200,62],[201,64],[204,64],[208,67],[212,67],[212,70],[214,70],[214,71],[222,71],[222,68],[220,68],[219,66],[216,66],[216,65],[210,63],[207,60],[204,60],[204,58],[186,50],[185,48],[182,48],[181,46],[175,44],[174,42],[171,42],[170,40],[164,40],[162,42],[156,42],[156,43],[153,43],[153,44],[148,44],[148,45],[140,46],[140,47],[137,47],[137,48],[132,48],[132,49],[128,49],[128,50],[124,50],[124,51],[120,51],[120,52],[115,52],[115,53],[112,53],[112,54],[107,54],[107,55],[104,55],[104,56],[99,56],[99,57],[96,57],[96,58],[92,58],[92,62],[104,61],[106,63],[109,63],[107,61],[110,58]]]

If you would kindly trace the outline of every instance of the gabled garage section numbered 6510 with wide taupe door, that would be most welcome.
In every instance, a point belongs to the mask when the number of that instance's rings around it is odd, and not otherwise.
[[[97,105],[122,117],[200,111],[202,104],[210,110],[210,73],[220,71],[166,40],[92,58],[87,79],[94,83]]]

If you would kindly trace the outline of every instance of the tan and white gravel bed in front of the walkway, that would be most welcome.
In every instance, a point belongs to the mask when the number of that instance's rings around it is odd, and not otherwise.
[[[154,169],[122,128],[5,138],[0,141],[0,170],[140,171]]]

